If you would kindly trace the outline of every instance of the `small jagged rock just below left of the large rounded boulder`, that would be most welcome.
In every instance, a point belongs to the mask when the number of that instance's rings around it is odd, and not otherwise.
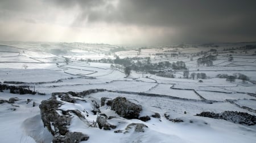
[[[96,122],[98,123],[98,127],[100,129],[102,129],[103,127],[103,129],[105,130],[110,130],[111,128],[115,129],[117,126],[108,123],[107,118],[108,117],[105,114],[100,114],[99,116],[97,116]]]

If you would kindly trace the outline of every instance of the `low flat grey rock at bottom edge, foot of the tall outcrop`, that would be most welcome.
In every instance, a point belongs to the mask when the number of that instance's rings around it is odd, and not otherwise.
[[[87,141],[89,136],[82,134],[81,132],[68,132],[65,136],[53,136],[53,143],[78,143],[81,141]]]

